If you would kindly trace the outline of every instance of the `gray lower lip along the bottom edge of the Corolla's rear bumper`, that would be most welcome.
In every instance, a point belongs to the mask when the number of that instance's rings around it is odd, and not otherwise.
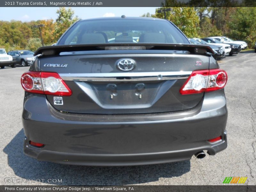
[[[221,142],[212,146],[202,146],[198,148],[188,148],[177,151],[139,154],[86,154],[66,153],[50,150],[38,151],[34,147],[29,147],[28,140],[25,138],[24,152],[28,156],[36,157],[38,160],[51,161],[60,164],[90,166],[145,165],[189,160],[191,159],[191,156],[203,150],[207,150],[209,155],[215,155],[217,152],[227,148],[226,132],[224,132],[222,138],[223,140]]]

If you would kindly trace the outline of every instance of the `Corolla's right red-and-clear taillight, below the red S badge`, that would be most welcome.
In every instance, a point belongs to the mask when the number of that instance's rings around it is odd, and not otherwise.
[[[222,69],[193,71],[180,89],[180,94],[192,94],[222,89],[228,80]]]

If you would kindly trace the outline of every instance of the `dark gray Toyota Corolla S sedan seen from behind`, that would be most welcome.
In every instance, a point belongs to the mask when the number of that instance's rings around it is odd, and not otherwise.
[[[170,21],[79,20],[21,77],[24,151],[77,165],[140,165],[227,148],[227,73]]]

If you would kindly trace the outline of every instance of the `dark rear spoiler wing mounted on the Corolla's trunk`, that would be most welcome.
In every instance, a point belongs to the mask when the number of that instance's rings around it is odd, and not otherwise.
[[[130,47],[128,49],[151,49],[151,50],[179,50],[189,51],[193,54],[212,55],[214,51],[207,45],[196,44],[78,44],[78,45],[54,45],[44,46],[36,50],[34,56],[41,54],[42,56],[59,55],[61,52],[76,52],[76,51],[96,51],[110,50],[111,47]]]

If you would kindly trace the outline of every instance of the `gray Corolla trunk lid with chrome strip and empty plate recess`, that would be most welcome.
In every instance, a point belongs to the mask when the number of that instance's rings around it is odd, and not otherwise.
[[[134,68],[121,70],[121,60],[132,60]],[[201,65],[196,64],[198,61]],[[125,63],[121,67],[124,69]],[[57,110],[84,114],[159,113],[190,109],[202,100],[204,93],[181,95],[179,90],[193,70],[209,69],[209,56],[184,50],[62,52],[40,57],[40,69],[59,73],[72,90],[71,96],[62,97],[63,105],[55,105],[54,96],[47,95]]]

